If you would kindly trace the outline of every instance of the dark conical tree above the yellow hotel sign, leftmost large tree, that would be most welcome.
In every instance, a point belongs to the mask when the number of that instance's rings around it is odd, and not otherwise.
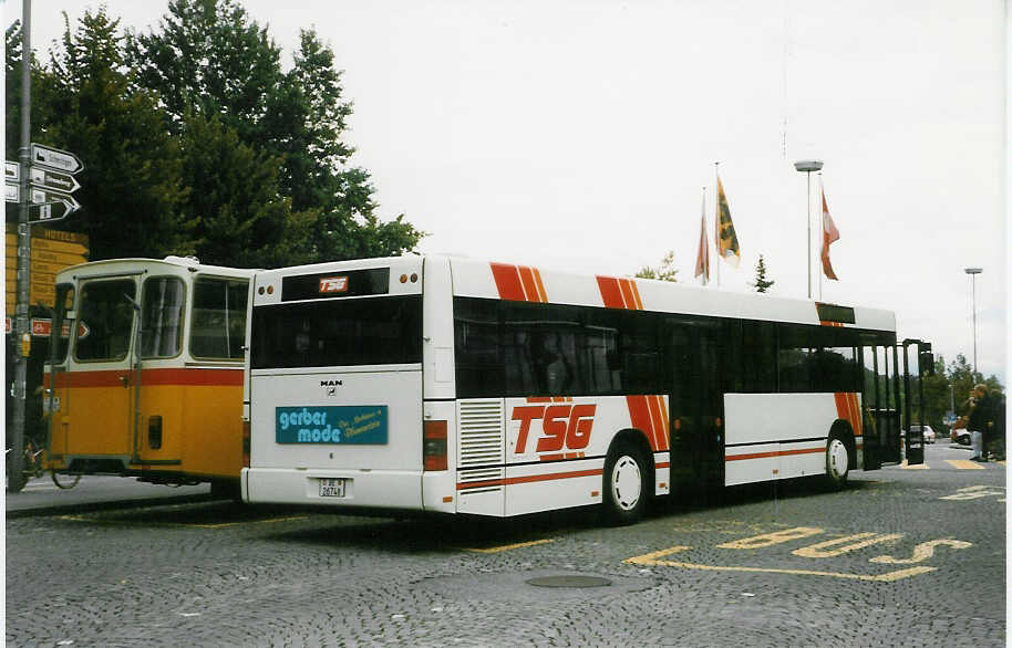
[[[37,140],[84,160],[74,194],[83,209],[64,227],[89,234],[92,259],[190,253],[179,149],[153,97],[131,88],[118,20],[99,9],[75,31],[64,21],[62,49],[39,71],[32,97]]]

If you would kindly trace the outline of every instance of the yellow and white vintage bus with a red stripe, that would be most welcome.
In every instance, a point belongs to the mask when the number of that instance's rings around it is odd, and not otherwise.
[[[238,495],[251,275],[168,257],[56,276],[45,386],[58,484],[111,473]]]

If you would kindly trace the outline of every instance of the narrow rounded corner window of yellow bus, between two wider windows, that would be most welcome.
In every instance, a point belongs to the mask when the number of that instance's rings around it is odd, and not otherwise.
[[[141,294],[141,357],[179,355],[186,299],[183,281],[174,276],[154,276],[144,282]]]

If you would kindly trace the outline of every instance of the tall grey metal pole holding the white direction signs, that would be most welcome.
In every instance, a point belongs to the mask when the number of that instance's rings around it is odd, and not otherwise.
[[[31,271],[32,231],[29,224],[29,170],[31,166],[32,129],[32,3],[22,0],[21,20],[21,165],[20,196],[18,201],[18,300],[14,305],[14,411],[11,420],[11,461],[7,489],[19,492],[24,488],[24,399],[28,383],[28,356],[31,352],[29,330],[29,272]]]

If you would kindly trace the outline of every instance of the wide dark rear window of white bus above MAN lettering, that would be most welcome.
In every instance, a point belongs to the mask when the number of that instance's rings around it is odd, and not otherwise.
[[[422,297],[405,295],[257,306],[254,369],[422,362]]]

